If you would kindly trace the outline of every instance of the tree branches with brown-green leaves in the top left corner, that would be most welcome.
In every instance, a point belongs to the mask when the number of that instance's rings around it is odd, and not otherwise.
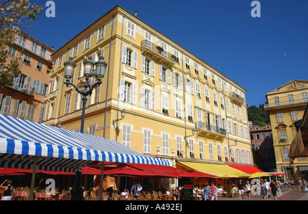
[[[21,74],[20,58],[7,62],[8,47],[12,46],[14,36],[21,33],[42,12],[42,6],[28,0],[0,1],[0,90],[12,85],[14,77]]]

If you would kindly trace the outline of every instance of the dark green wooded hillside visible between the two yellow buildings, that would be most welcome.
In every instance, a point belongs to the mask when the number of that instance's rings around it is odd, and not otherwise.
[[[265,126],[270,124],[270,116],[264,110],[264,104],[260,104],[259,107],[251,105],[247,108],[248,120],[253,122],[255,126]]]

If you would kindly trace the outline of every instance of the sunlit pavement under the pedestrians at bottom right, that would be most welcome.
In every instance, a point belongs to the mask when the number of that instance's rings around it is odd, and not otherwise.
[[[291,187],[285,187],[281,189],[283,193],[283,198],[279,198],[277,200],[308,200],[308,192],[299,191],[298,187],[295,187],[294,191]],[[233,198],[220,198],[219,200],[240,200],[240,198],[233,197]],[[244,196],[244,200],[248,200],[248,196]],[[251,200],[264,200],[261,195],[251,196]],[[272,193],[270,193],[270,198],[266,198],[266,200],[274,200]]]

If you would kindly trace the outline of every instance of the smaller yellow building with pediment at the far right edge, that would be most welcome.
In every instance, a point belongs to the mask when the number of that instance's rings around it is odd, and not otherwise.
[[[270,115],[277,172],[287,172],[287,178],[303,178],[301,169],[308,165],[307,157],[288,157],[296,135],[294,122],[303,118],[308,102],[308,81],[294,80],[266,94],[264,109]],[[307,175],[306,175],[307,176]]]

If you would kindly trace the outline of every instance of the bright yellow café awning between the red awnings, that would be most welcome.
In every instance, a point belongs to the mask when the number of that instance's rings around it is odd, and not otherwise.
[[[185,165],[193,170],[204,172],[207,174],[213,174],[221,178],[243,178],[249,177],[251,174],[242,172],[235,168],[231,168],[229,165],[224,164],[214,164],[214,163],[196,163],[196,162],[186,162],[178,161],[181,165]]]

